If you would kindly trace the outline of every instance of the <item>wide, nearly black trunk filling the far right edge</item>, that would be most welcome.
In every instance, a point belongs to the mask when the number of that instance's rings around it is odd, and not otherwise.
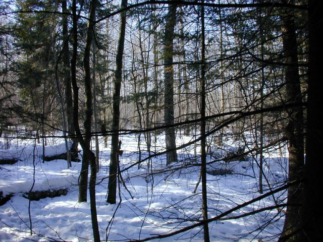
[[[305,183],[302,200],[302,231],[299,241],[322,241],[321,209],[323,147],[322,38],[323,1],[309,1],[309,66],[306,130]]]

